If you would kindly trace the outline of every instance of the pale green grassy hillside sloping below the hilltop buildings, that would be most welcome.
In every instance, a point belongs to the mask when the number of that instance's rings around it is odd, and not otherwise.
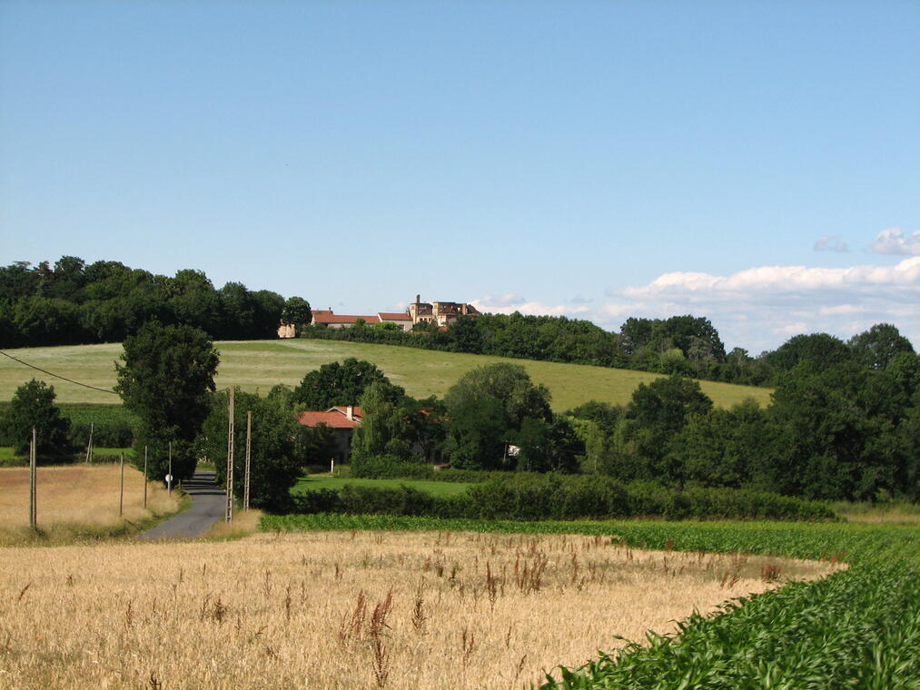
[[[509,360],[478,354],[458,354],[400,348],[389,345],[330,340],[255,340],[219,342],[221,366],[217,385],[239,385],[244,391],[265,394],[275,384],[296,385],[304,374],[320,364],[346,357],[374,362],[390,379],[406,388],[409,395],[443,396],[461,375],[470,369],[491,362],[523,364],[538,383],[545,384],[553,394],[553,408],[565,410],[587,400],[626,403],[640,383],[648,383],[657,374],[582,364]],[[110,388],[115,385],[115,366],[121,355],[120,344],[63,346],[56,348],[26,348],[11,350],[10,354],[42,369],[61,374],[89,385]],[[119,403],[120,398],[54,379],[18,362],[0,360],[0,400],[13,396],[17,385],[33,376],[54,385],[59,402]],[[729,407],[745,397],[753,397],[767,405],[771,391],[744,385],[701,382],[707,396],[716,405]]]

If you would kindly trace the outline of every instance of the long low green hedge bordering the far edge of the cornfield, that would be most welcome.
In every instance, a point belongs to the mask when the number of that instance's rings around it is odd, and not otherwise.
[[[341,512],[487,520],[576,520],[664,517],[668,520],[833,520],[822,503],[736,489],[665,489],[609,477],[494,477],[462,494],[347,485],[294,497],[298,512]]]

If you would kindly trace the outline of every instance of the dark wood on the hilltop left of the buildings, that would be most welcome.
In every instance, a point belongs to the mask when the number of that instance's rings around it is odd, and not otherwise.
[[[282,318],[308,323],[311,317],[302,297],[250,291],[240,282],[218,289],[201,270],[170,278],[77,257],[0,268],[0,347],[6,348],[121,342],[152,319],[201,328],[214,339],[265,339],[277,335]]]

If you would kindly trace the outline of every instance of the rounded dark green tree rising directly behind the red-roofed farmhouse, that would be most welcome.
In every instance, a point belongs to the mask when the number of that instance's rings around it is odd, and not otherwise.
[[[355,405],[374,382],[385,384],[385,397],[398,402],[405,391],[393,385],[371,362],[349,357],[344,362],[323,364],[307,373],[293,391],[293,399],[301,409],[328,409],[335,405]]]

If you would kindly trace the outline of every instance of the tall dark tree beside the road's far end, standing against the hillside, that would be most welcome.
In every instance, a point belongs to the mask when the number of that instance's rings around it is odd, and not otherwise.
[[[190,326],[148,321],[124,340],[123,364],[116,362],[116,390],[141,420],[136,447],[140,463],[150,452],[147,475],[162,479],[168,444],[173,446],[173,476],[190,477],[196,457],[192,443],[210,409],[209,393],[219,361],[208,335]]]

